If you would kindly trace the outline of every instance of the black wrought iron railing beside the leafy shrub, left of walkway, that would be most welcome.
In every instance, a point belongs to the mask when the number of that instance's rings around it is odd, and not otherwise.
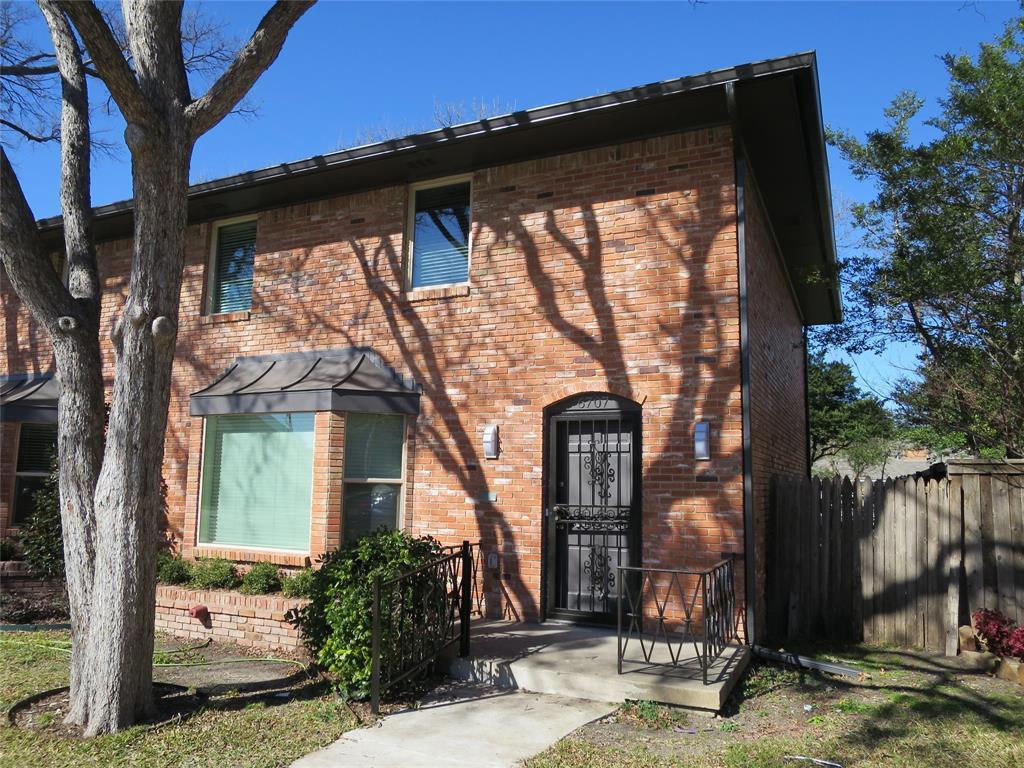
[[[427,671],[449,646],[458,642],[459,655],[469,655],[478,551],[478,544],[463,542],[414,570],[374,579],[370,702],[375,713],[386,690]]]

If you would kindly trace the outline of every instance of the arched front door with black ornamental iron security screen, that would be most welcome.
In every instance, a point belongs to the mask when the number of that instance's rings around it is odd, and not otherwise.
[[[640,411],[608,395],[549,416],[548,613],[612,624],[620,565],[637,565]]]

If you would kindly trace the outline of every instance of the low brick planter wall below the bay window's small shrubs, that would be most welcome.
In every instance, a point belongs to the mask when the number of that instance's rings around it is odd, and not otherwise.
[[[190,590],[157,586],[157,632],[190,640],[226,640],[258,650],[304,652],[299,632],[285,613],[307,600],[280,595],[243,595],[238,592]],[[188,615],[188,608],[205,605],[206,622]]]

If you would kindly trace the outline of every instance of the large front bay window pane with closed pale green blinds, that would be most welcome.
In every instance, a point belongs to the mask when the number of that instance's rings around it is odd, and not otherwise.
[[[201,544],[309,551],[313,414],[206,420]]]

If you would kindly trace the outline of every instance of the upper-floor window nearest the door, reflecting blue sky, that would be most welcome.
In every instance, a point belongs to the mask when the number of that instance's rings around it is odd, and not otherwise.
[[[469,181],[413,187],[412,288],[469,281]]]

